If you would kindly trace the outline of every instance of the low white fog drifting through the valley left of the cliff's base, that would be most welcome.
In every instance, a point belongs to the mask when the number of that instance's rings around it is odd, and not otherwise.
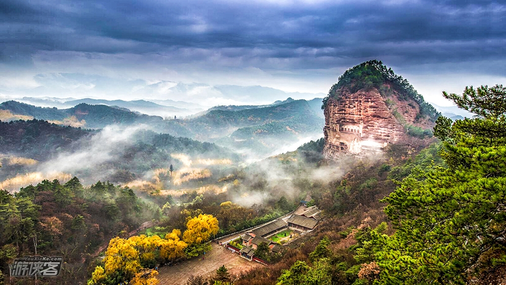
[[[298,136],[290,143],[278,140],[276,149],[269,154],[248,148],[237,151],[235,158],[231,156],[231,149],[214,150],[205,155],[199,151],[160,152],[154,157],[161,162],[150,166],[149,161],[143,161],[149,158],[137,157],[137,152],[132,154],[133,157],[128,156],[129,149],[138,147],[145,152],[157,153],[153,146],[139,146],[139,136],[146,136],[142,133],[145,130],[156,133],[153,127],[147,125],[111,125],[76,141],[71,150],[56,153],[48,161],[10,158],[13,163],[25,163],[26,174],[0,182],[0,188],[17,191],[43,179],[66,182],[77,176],[85,185],[99,180],[111,181],[146,193],[172,195],[175,199],[193,192],[204,195],[226,193],[232,202],[251,207],[281,196],[293,202],[299,201],[314,185],[338,179],[348,169],[347,163],[319,166],[305,161],[300,153],[294,152],[302,144],[319,139],[319,133]],[[137,162],[132,159],[137,159]],[[135,164],[139,159],[147,168]],[[116,179],[118,173],[122,175],[119,180]]]

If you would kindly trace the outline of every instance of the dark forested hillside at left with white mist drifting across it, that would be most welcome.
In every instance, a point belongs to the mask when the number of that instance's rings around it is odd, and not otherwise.
[[[239,159],[230,150],[212,143],[157,134],[142,128],[84,130],[36,119],[0,122],[0,149],[0,163],[3,164],[0,185],[9,190],[36,182],[39,177],[61,179],[65,175],[77,175],[86,183],[95,182],[97,177],[116,183],[146,180],[147,173],[166,173],[171,165],[177,171],[184,171],[186,165],[181,160],[186,159],[184,157],[197,159],[194,164],[200,163],[198,159],[203,159],[201,163],[219,162],[214,175],[220,176],[229,174]],[[187,171],[196,175],[204,170]],[[205,175],[199,179],[204,178]],[[187,179],[184,185],[192,183]]]

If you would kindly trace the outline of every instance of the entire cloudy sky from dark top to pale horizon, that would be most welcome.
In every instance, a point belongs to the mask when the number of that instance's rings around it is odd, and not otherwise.
[[[160,82],[326,94],[378,59],[450,105],[443,90],[504,82],[505,15],[479,0],[2,0],[0,95],[134,99]]]

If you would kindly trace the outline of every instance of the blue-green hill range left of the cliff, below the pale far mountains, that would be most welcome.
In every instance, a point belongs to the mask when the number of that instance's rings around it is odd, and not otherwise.
[[[214,142],[255,157],[275,153],[282,146],[299,142],[300,145],[309,139],[317,139],[321,136],[324,125],[320,98],[309,101],[288,98],[262,106],[218,106],[186,119],[164,119],[117,106],[136,105],[149,108],[156,105],[144,100],[107,101],[118,103],[116,106],[86,103],[101,102],[94,99],[67,102],[78,104],[71,108],[58,109],[7,101],[0,104],[0,110],[4,112],[0,113],[0,120],[36,118],[57,125],[93,129],[108,125],[145,124],[146,128],[159,133]]]

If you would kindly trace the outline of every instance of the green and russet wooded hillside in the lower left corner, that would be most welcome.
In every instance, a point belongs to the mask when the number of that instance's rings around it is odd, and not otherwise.
[[[128,187],[83,187],[75,177],[65,184],[45,180],[15,195],[0,190],[0,268],[7,272],[7,264],[23,255],[62,256],[60,277],[41,283],[80,283],[99,246],[158,211]]]

